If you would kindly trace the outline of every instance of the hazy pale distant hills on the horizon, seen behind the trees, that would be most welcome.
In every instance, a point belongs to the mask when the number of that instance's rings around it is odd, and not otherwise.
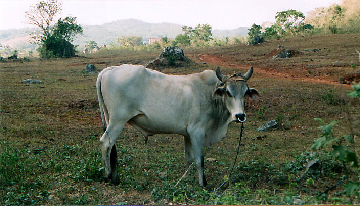
[[[137,19],[117,20],[102,25],[82,25],[84,35],[77,37],[73,44],[79,45],[79,50],[84,48],[86,41],[94,40],[99,45],[109,45],[121,35],[141,36],[146,42],[149,38],[167,36],[175,38],[182,33],[182,25],[174,23],[147,23]],[[212,30],[213,36],[222,38],[228,36],[245,36],[249,28],[239,27],[233,30]],[[0,30],[0,44],[12,48],[29,47],[25,41],[32,29]],[[31,45],[31,44],[30,44]]]

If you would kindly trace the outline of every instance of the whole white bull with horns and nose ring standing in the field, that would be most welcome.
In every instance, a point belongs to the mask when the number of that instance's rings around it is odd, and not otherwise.
[[[251,67],[244,75],[224,76],[217,67],[178,76],[127,64],[101,71],[96,87],[105,131],[100,139],[105,179],[118,184],[115,141],[129,123],[145,142],[154,134],[183,135],[186,169],[195,161],[199,183],[206,186],[204,146],[223,139],[231,122],[246,120],[245,95],[259,96],[246,84],[252,73]]]

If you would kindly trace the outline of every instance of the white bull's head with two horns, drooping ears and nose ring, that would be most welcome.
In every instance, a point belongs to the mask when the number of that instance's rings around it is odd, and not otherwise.
[[[252,74],[253,67],[251,67],[244,75],[236,73],[231,76],[221,74],[220,67],[216,68],[216,76],[220,82],[218,83],[212,98],[222,98],[224,105],[230,112],[231,121],[246,121],[244,110],[246,95],[250,96],[251,99],[256,99],[260,96],[256,89],[247,87],[246,81],[250,79]]]

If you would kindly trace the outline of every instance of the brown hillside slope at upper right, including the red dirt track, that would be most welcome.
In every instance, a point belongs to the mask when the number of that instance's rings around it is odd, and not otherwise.
[[[253,66],[255,73],[274,78],[336,85],[341,77],[350,82],[360,82],[357,48],[360,48],[358,33],[302,36],[274,39],[254,46],[204,49],[201,53],[192,53],[189,58],[198,63],[212,63],[233,69]],[[292,56],[273,59],[282,50],[290,51]]]

